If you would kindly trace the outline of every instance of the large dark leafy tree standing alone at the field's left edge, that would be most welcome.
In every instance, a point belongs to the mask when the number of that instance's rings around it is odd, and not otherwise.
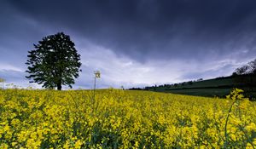
[[[79,77],[80,54],[68,35],[59,32],[43,37],[28,51],[26,61],[31,83],[43,84],[44,88],[61,90],[61,85],[72,88],[74,78]]]

